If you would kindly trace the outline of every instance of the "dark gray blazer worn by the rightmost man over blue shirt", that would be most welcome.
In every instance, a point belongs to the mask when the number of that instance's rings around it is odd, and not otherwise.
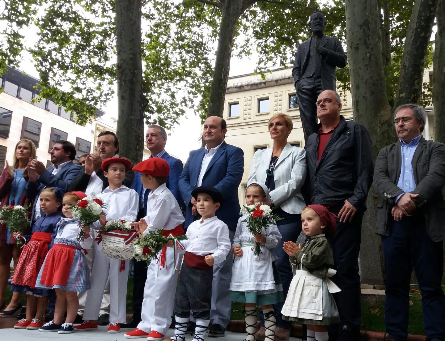
[[[397,195],[404,193],[397,182],[401,172],[401,143],[393,143],[377,156],[373,185],[380,201],[377,205],[376,233],[390,235],[389,219]],[[429,237],[437,242],[445,237],[445,146],[421,138],[413,156],[413,174],[416,188],[411,193],[419,196],[413,201],[423,211]]]

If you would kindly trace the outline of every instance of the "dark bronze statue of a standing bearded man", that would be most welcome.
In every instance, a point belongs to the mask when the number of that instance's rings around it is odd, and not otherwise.
[[[348,62],[340,41],[324,35],[321,12],[313,12],[309,24],[312,37],[298,45],[292,69],[304,141],[316,132],[317,97],[323,90],[336,90],[335,68],[344,68]]]

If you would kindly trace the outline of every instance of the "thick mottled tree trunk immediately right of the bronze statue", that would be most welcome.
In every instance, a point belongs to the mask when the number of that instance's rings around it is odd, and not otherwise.
[[[346,0],[346,37],[354,120],[369,131],[374,157],[393,139],[391,108],[386,96],[386,80],[380,36],[380,14],[376,0]],[[371,191],[362,224],[360,265],[362,283],[381,284],[379,239],[375,234],[376,197]]]

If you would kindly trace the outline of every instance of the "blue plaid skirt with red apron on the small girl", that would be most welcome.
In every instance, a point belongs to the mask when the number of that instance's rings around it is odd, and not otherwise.
[[[85,256],[80,251],[80,247],[74,240],[64,239],[64,238],[57,238],[54,240],[54,244],[64,244],[69,246],[74,246],[76,249],[67,249],[67,248],[52,248],[48,255],[45,258],[45,261],[42,265],[42,268],[40,269],[39,276],[37,277],[36,281],[36,287],[37,288],[45,288],[45,289],[54,289],[58,288],[65,291],[75,291],[75,292],[85,292],[89,288],[91,288],[90,278],[89,278],[89,269],[88,264],[85,261]],[[66,255],[62,256],[63,252],[72,252],[74,255],[73,263],[71,264],[71,267],[69,267],[69,264],[64,263],[64,259],[66,259]],[[71,258],[71,257],[69,257]],[[61,285],[60,283],[53,282],[51,285],[46,283],[46,285],[43,285],[41,283],[42,274],[45,272],[45,263],[52,263],[56,262],[62,269],[65,271],[69,271],[68,274],[68,281],[66,285]],[[68,265],[68,266],[67,266]],[[49,267],[46,267],[46,270],[48,270]],[[46,275],[49,277],[51,274],[46,273]]]

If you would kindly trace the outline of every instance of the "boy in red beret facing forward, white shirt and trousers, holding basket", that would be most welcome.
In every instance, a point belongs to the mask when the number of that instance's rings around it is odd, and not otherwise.
[[[122,184],[125,174],[131,169],[131,161],[126,158],[107,158],[102,162],[102,170],[108,178],[106,187],[97,196],[103,201],[101,219],[92,224],[99,230],[106,221],[124,219],[133,222],[138,215],[138,193]],[[89,289],[83,314],[84,322],[74,327],[74,330],[97,329],[97,318],[101,308],[102,297],[107,280],[110,284],[110,317],[108,333],[119,333],[119,323],[127,321],[127,281],[129,260],[118,260],[105,256],[102,252],[101,238],[94,242],[94,262],[91,269],[91,289]]]

